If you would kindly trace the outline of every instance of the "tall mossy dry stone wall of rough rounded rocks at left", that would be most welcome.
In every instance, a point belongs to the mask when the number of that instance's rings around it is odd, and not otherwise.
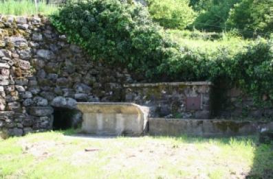
[[[54,108],[120,102],[124,82],[126,69],[91,62],[42,16],[0,16],[1,136],[52,129]]]

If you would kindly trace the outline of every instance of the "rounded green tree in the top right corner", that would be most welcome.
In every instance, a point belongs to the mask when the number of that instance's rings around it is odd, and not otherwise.
[[[244,36],[273,32],[273,1],[243,0],[231,10],[228,25],[240,29]]]

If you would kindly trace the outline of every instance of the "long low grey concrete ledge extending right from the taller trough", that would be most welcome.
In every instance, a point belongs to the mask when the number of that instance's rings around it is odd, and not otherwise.
[[[239,136],[272,130],[273,122],[150,118],[149,134],[163,136]]]

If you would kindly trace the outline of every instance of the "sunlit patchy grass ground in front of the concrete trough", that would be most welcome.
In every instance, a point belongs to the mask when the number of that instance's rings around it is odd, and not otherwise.
[[[255,137],[65,134],[73,131],[0,141],[0,178],[262,178],[273,169],[272,147]]]

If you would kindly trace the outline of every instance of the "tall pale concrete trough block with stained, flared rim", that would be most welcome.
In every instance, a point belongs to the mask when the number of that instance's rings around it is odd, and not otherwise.
[[[82,132],[140,136],[148,132],[149,108],[131,103],[77,103],[83,112]]]

